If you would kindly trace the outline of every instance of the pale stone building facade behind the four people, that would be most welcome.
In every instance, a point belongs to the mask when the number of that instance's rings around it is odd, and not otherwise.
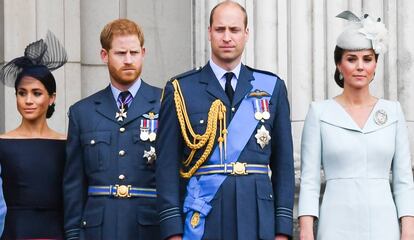
[[[147,56],[143,79],[163,87],[173,75],[209,59],[208,17],[218,0],[0,0],[0,64],[50,29],[68,51],[69,62],[54,74],[57,106],[50,125],[65,132],[71,104],[105,87],[106,66],[99,33],[116,18],[144,29]],[[297,184],[300,138],[310,102],[340,92],[333,80],[333,50],[345,21],[343,10],[381,17],[389,29],[389,51],[379,59],[372,92],[403,106],[414,152],[414,1],[238,0],[249,15],[250,39],[243,62],[286,80],[291,104]],[[14,90],[0,85],[0,131],[15,128]]]

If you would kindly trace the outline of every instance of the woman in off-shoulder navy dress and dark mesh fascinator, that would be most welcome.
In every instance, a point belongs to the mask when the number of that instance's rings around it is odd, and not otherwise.
[[[1,239],[63,239],[62,175],[66,137],[49,128],[56,82],[51,74],[67,61],[66,51],[48,32],[26,47],[25,55],[0,70],[14,86],[20,125],[0,135],[0,164],[7,205]]]

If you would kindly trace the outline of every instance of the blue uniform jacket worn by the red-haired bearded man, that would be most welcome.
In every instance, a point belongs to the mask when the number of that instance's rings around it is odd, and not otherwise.
[[[155,189],[155,167],[144,158],[154,142],[140,139],[143,115],[158,113],[161,90],[145,82],[122,122],[108,86],[69,110],[64,173],[66,239],[158,239],[156,198],[89,196],[89,186]],[[114,188],[113,188],[114,189]]]

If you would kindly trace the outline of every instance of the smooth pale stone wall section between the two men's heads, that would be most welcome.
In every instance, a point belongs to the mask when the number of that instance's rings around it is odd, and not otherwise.
[[[194,66],[191,0],[127,0],[126,16],[145,34],[144,81],[164,87],[166,81]]]

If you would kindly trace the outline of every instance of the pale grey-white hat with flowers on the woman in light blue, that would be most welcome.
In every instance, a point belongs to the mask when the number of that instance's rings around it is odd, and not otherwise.
[[[388,31],[380,18],[374,20],[368,14],[357,17],[350,11],[344,11],[336,17],[349,21],[349,25],[338,36],[338,47],[355,51],[374,49],[376,54],[387,51]]]

